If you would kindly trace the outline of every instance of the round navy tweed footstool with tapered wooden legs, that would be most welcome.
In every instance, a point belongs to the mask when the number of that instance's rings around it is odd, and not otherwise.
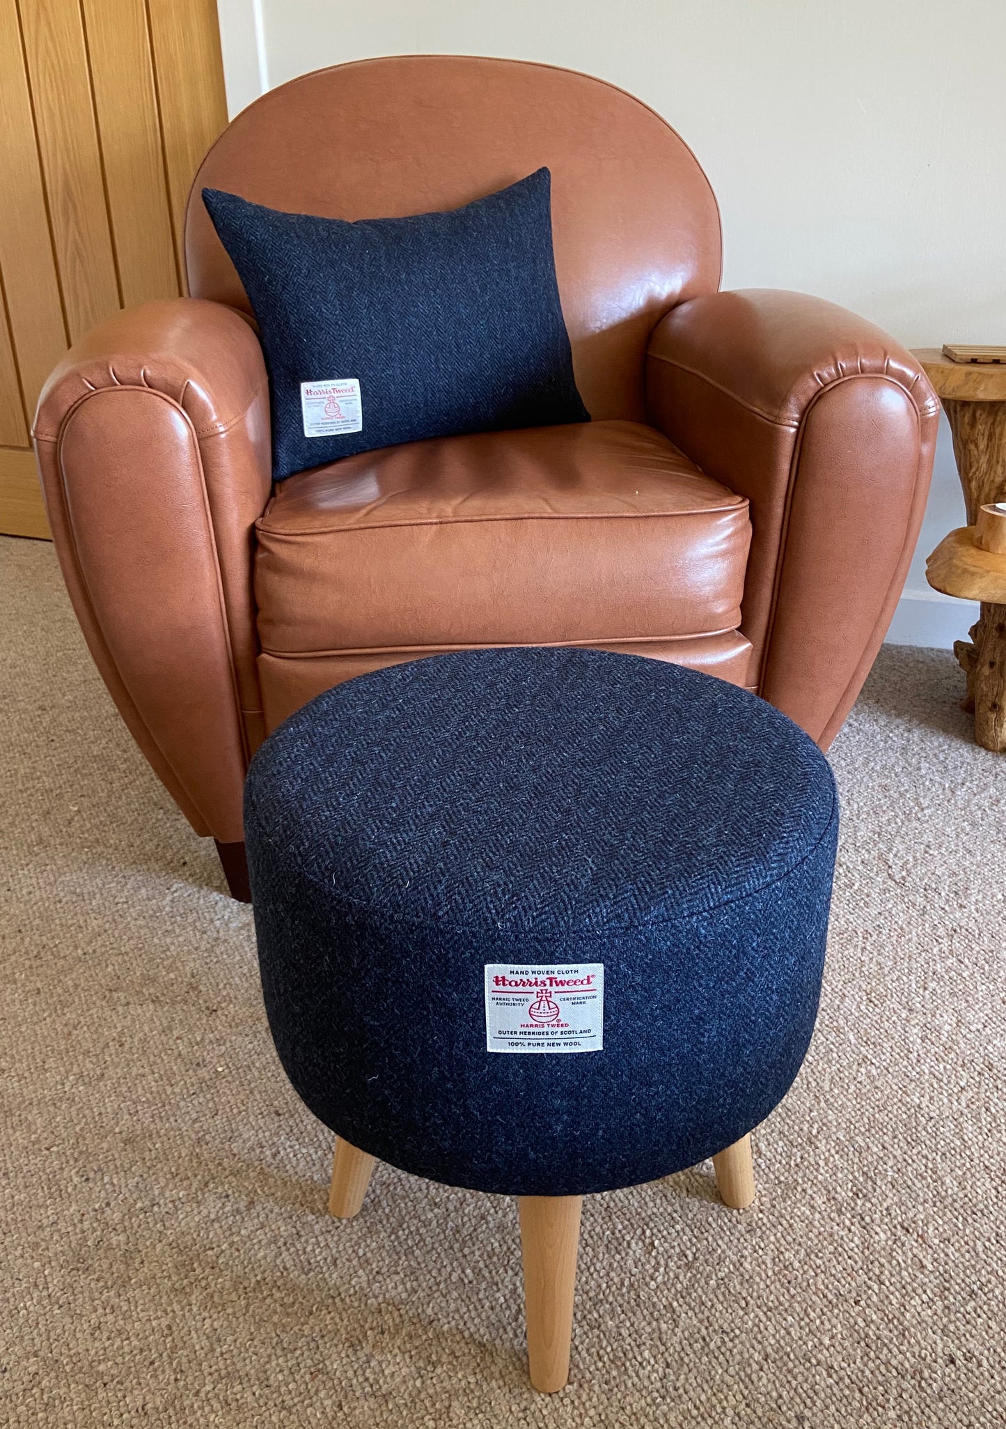
[[[581,1198],[748,1133],[818,1007],[838,802],[772,706],[674,664],[474,650],[320,694],[255,755],[245,837],[280,1059],[374,1157],[517,1196],[531,1379],[565,1383]]]

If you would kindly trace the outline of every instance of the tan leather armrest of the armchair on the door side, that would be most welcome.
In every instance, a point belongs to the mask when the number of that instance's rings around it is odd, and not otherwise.
[[[251,556],[271,470],[258,339],[200,299],[117,313],[56,367],[33,437],[70,599],[123,719],[195,832],[240,842],[263,736]]]

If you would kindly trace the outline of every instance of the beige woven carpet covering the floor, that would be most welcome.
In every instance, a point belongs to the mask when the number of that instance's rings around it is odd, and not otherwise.
[[[0,542],[11,1426],[1006,1423],[1006,760],[886,649],[833,749],[819,1030],[756,1137],[588,1200],[569,1386],[525,1379],[515,1208],[378,1167],[273,1053],[248,910],[113,712],[49,546]]]

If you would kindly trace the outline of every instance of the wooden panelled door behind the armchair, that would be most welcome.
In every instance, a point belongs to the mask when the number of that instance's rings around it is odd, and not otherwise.
[[[49,534],[29,432],[66,349],[183,292],[225,123],[215,0],[0,0],[0,532]]]

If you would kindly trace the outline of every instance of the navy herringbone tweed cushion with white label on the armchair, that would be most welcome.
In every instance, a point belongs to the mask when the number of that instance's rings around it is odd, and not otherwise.
[[[275,480],[422,437],[589,422],[548,169],[411,219],[278,213],[218,189],[203,201],[258,320]]]

